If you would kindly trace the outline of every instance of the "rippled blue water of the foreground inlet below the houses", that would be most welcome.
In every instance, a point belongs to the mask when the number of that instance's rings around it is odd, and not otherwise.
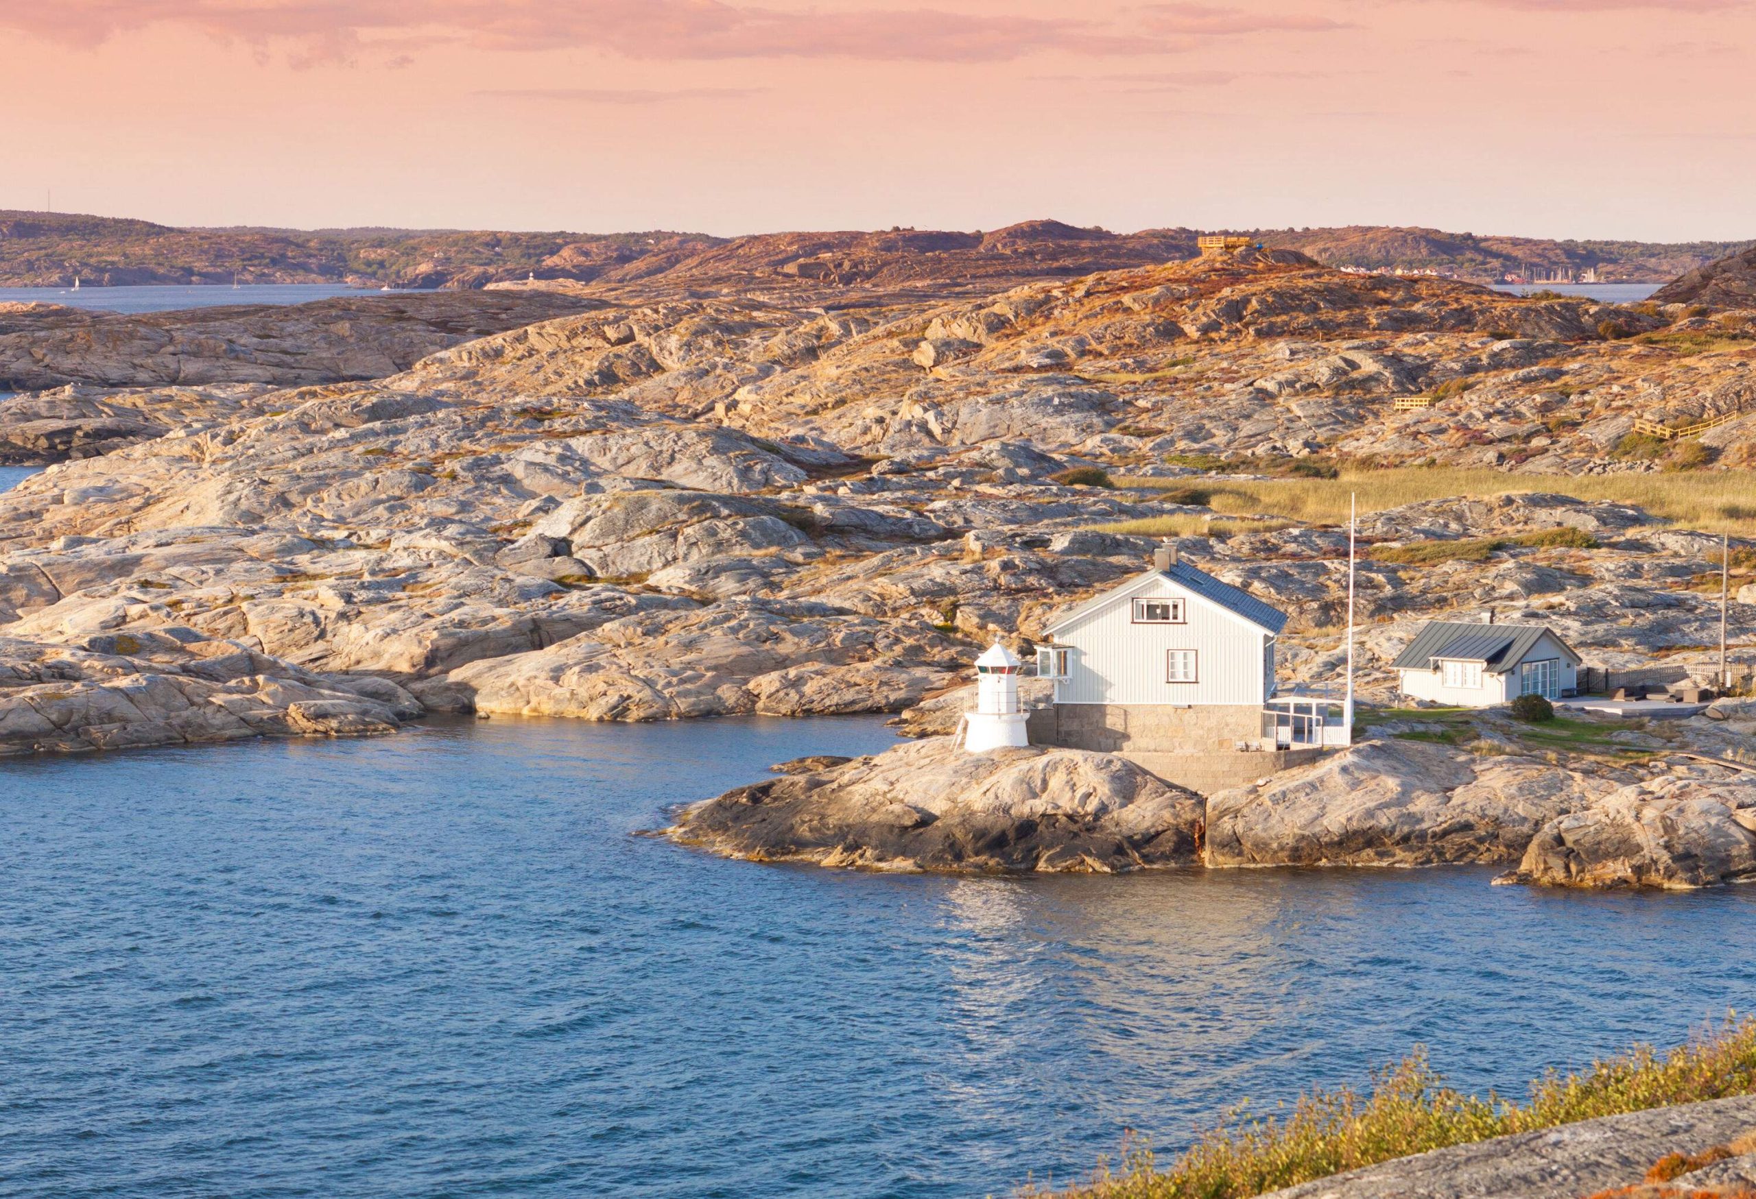
[[[1756,997],[1756,888],[876,876],[630,836],[889,743],[493,720],[0,764],[0,1190],[1006,1194],[1417,1041],[1507,1088]]]

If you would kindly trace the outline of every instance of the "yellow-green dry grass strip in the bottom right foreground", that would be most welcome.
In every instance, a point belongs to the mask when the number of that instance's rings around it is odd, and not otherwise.
[[[1271,1116],[1238,1108],[1168,1169],[1157,1167],[1150,1148],[1129,1148],[1119,1169],[1101,1166],[1087,1187],[1027,1194],[1249,1199],[1447,1145],[1749,1094],[1756,1094],[1756,1020],[1747,1016],[1666,1053],[1637,1045],[1584,1071],[1551,1071],[1529,1085],[1524,1102],[1452,1090],[1417,1050],[1373,1076],[1370,1094],[1313,1090]]]

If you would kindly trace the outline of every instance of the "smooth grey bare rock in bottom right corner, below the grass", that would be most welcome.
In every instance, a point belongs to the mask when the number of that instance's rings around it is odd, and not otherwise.
[[[1752,1125],[1756,1095],[1654,1108],[1400,1157],[1264,1199],[1582,1199],[1637,1185],[1661,1157],[1700,1153]]]

